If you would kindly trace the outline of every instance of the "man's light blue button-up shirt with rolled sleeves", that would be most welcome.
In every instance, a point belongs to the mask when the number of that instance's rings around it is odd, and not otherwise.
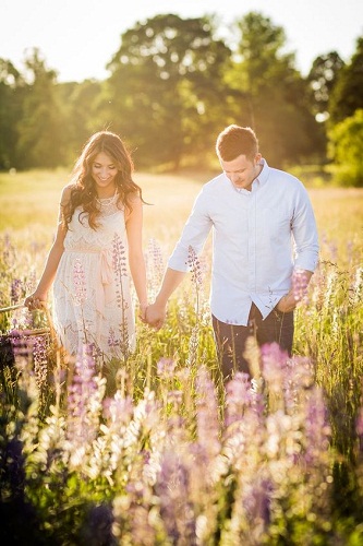
[[[238,190],[221,174],[197,195],[168,266],[187,271],[189,247],[199,254],[213,229],[210,311],[246,325],[252,301],[266,318],[291,287],[293,269],[314,271],[318,239],[307,191],[298,178],[270,168]]]

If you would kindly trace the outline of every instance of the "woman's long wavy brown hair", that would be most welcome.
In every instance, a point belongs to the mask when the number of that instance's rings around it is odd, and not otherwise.
[[[134,164],[130,152],[126,150],[118,134],[110,131],[99,131],[90,136],[83,147],[82,154],[75,163],[72,173],[72,189],[69,202],[63,206],[63,225],[68,227],[74,211],[82,206],[80,221],[83,214],[88,216],[89,227],[97,229],[97,218],[100,211],[97,207],[96,183],[92,176],[95,157],[104,152],[111,157],[118,169],[114,183],[118,192],[118,206],[132,211],[131,198],[135,194],[142,197],[142,189],[132,179]]]

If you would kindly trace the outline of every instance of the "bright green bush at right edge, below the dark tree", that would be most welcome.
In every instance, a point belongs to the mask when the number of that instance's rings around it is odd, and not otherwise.
[[[340,123],[329,132],[329,156],[338,166],[336,180],[341,186],[363,186],[363,109]]]

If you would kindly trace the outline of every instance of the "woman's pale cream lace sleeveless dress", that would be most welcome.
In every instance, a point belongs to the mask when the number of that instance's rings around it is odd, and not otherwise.
[[[92,344],[104,360],[134,351],[135,320],[130,289],[124,212],[100,200],[95,230],[76,209],[64,239],[53,284],[53,320],[61,345],[76,355]]]

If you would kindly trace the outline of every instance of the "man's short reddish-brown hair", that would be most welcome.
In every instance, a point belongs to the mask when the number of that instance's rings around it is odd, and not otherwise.
[[[216,153],[225,162],[231,162],[239,155],[253,161],[258,153],[257,136],[251,127],[228,126],[217,138]]]

